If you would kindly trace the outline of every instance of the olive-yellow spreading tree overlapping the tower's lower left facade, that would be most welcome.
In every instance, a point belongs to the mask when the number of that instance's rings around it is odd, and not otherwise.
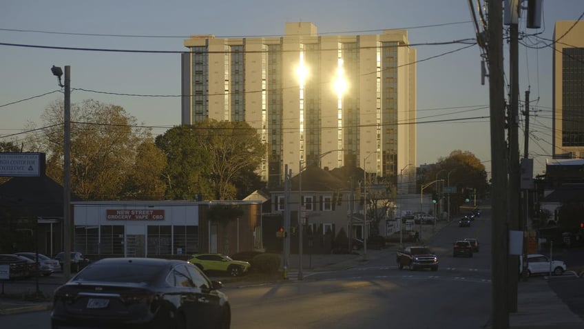
[[[243,121],[216,120],[197,123],[195,131],[211,161],[209,179],[215,198],[234,199],[238,179],[255,172],[264,157],[258,132]]]

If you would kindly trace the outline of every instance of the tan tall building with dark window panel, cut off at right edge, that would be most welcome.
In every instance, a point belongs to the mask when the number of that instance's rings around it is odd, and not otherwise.
[[[584,21],[554,30],[554,159],[584,159]]]

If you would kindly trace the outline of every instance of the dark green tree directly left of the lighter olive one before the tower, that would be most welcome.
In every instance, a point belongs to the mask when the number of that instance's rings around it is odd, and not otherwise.
[[[211,160],[201,144],[193,126],[175,126],[156,137],[156,146],[166,156],[163,176],[168,199],[213,195],[208,178]]]

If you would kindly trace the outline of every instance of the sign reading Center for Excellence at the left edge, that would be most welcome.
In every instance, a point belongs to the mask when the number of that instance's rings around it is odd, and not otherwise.
[[[39,177],[45,175],[45,153],[0,152],[0,176]]]

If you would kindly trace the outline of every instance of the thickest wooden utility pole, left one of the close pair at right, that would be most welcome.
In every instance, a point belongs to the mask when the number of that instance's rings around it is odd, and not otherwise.
[[[508,329],[508,217],[505,152],[505,86],[503,80],[503,3],[488,1],[488,69],[492,172],[492,328]]]

